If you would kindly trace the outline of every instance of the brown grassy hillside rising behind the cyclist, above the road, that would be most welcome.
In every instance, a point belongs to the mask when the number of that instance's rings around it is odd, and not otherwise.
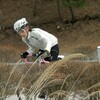
[[[57,13],[57,5],[54,0],[37,0],[36,16],[34,16],[34,2],[27,0],[6,0],[0,1],[0,40],[2,44],[14,46],[23,46],[20,37],[14,32],[13,24],[16,20],[26,17],[33,27],[42,28],[59,39],[61,53],[81,52],[79,49],[92,49],[96,51],[100,36],[100,19],[79,20],[74,24],[65,23],[71,18],[68,9],[62,7],[61,15],[64,23],[59,20]],[[49,10],[50,9],[50,10]],[[83,8],[75,9],[76,18],[84,18],[86,15],[98,15],[99,0],[94,2],[87,1],[87,5]],[[11,12],[11,13],[10,13]],[[92,13],[91,13],[92,12]],[[43,17],[41,17],[43,16]],[[9,41],[8,41],[9,40]],[[16,40],[16,42],[15,42]],[[21,42],[21,45],[20,45]],[[16,44],[18,43],[18,45]],[[63,47],[62,44],[64,43]],[[15,46],[16,44],[16,46]],[[91,45],[92,44],[92,45]],[[23,47],[24,48],[24,47]],[[78,49],[79,51],[76,51]],[[88,50],[89,51],[89,50]],[[91,51],[91,50],[90,50]],[[84,52],[84,51],[82,51]],[[86,52],[86,50],[85,50]]]

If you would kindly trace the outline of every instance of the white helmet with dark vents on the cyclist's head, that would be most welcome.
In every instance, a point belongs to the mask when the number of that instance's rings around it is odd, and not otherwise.
[[[23,29],[24,26],[26,26],[28,24],[26,18],[22,18],[22,19],[19,19],[18,21],[16,21],[14,23],[14,30],[16,32],[19,32]]]

